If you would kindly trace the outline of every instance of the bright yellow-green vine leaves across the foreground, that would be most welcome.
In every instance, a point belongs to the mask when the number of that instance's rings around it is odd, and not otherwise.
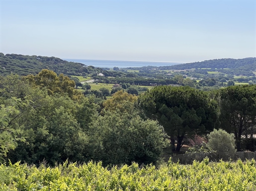
[[[172,163],[104,168],[65,162],[54,168],[0,165],[0,190],[8,191],[255,191],[255,161]]]

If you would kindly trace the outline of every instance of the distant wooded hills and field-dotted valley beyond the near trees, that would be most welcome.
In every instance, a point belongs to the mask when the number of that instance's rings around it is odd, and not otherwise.
[[[133,68],[135,70],[115,67],[115,70],[110,70],[109,68],[95,68],[81,63],[68,62],[56,57],[0,53],[0,76],[8,74],[35,75],[42,69],[50,69],[58,75],[61,73],[69,75],[71,80],[74,80],[76,88],[82,88],[81,79],[91,78],[97,83],[119,84],[125,90],[131,85],[148,87],[175,85],[211,91],[239,83],[256,84],[255,65],[255,58],[244,58]],[[235,77],[235,75],[240,77]],[[92,88],[92,90],[94,89]],[[109,91],[111,90],[109,89]],[[135,95],[144,92],[134,88],[127,91]],[[101,97],[98,90],[96,92],[86,91],[85,94]]]

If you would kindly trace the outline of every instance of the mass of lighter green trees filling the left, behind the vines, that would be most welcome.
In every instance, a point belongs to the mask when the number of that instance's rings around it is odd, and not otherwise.
[[[157,163],[168,145],[162,126],[141,118],[137,97],[130,99],[128,93],[113,96],[118,105],[111,99],[97,105],[95,97],[76,93],[74,81],[49,70],[35,76],[9,75],[0,82],[3,159],[36,165],[67,159],[147,164]],[[100,91],[109,94],[107,89]]]

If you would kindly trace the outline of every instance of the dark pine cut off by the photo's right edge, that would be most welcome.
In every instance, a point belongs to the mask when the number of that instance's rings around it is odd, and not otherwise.
[[[241,150],[241,137],[255,133],[256,85],[229,86],[220,90],[221,127],[234,133],[237,150]]]

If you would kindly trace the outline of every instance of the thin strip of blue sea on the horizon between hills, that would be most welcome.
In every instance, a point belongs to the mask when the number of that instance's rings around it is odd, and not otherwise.
[[[99,68],[129,68],[129,67],[143,67],[143,66],[171,66],[176,64],[183,64],[184,62],[151,62],[151,61],[117,61],[117,60],[85,60],[85,59],[64,59],[69,62],[79,62],[87,66],[94,66]]]

